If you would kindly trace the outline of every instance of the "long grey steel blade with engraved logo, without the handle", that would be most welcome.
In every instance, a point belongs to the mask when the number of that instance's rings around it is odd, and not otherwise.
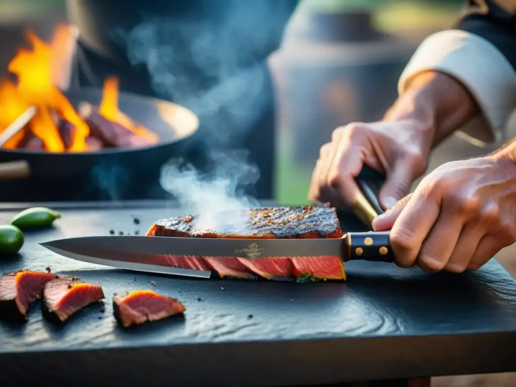
[[[343,239],[175,238],[130,235],[58,239],[41,245],[116,261],[134,262],[134,259],[142,256],[146,260],[143,262],[155,263],[163,261],[163,256],[166,255],[237,256],[247,259],[337,255],[345,259],[347,257],[343,256],[343,243]]]

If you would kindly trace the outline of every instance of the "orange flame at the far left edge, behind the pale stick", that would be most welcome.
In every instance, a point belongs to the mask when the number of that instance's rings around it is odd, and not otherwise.
[[[29,108],[16,90],[16,86],[8,80],[0,85],[0,132],[4,131],[14,120]],[[25,136],[25,128],[12,136],[2,148],[14,149]]]

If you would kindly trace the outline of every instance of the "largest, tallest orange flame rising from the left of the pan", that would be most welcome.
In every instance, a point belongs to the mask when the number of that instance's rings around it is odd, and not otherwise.
[[[20,50],[9,63],[8,69],[18,76],[17,91],[28,104],[37,106],[38,110],[41,110],[42,106],[55,109],[63,118],[75,126],[69,151],[82,152],[88,149],[86,137],[89,135],[89,127],[77,115],[66,96],[53,82],[56,79],[56,70],[53,68],[55,60],[53,53],[65,51],[67,48],[62,46],[65,43],[62,35],[63,29],[58,29],[52,44],[48,44],[29,31],[27,39],[32,44],[33,50]],[[40,118],[44,116],[46,116],[46,113],[40,112]],[[58,132],[51,129],[47,133],[44,127],[38,127],[38,125],[46,124],[48,122],[46,119],[37,119],[36,122],[34,125],[30,125],[31,131],[46,145],[53,144],[56,147],[47,148],[47,150],[59,152],[60,147],[57,144],[62,143],[62,141],[60,141]],[[45,140],[40,137],[43,134],[45,137],[57,135],[58,138]]]

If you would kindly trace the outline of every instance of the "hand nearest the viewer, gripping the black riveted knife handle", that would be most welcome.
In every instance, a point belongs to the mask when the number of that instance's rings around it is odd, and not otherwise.
[[[398,266],[477,269],[516,240],[516,166],[496,155],[446,163],[373,227],[391,230]]]

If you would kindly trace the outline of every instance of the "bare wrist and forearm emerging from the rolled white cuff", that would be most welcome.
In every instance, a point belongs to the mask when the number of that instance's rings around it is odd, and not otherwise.
[[[438,71],[425,71],[410,79],[383,120],[421,122],[431,132],[433,149],[478,112],[473,96],[458,80]]]

